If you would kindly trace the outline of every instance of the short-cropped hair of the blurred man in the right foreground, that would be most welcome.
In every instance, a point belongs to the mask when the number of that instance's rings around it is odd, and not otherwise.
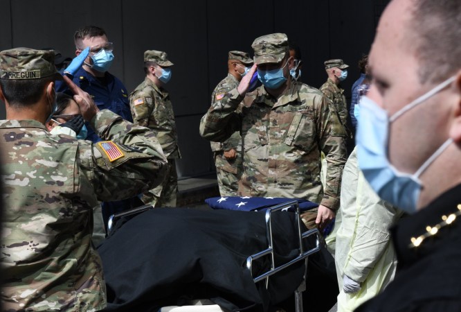
[[[413,49],[421,61],[419,80],[421,83],[445,80],[461,69],[461,1],[418,0],[413,3],[415,9],[410,27],[417,40]]]

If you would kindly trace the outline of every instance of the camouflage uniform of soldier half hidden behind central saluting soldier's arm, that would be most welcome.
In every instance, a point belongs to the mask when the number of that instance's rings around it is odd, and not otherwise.
[[[221,80],[213,94],[211,94],[211,105],[215,105],[219,98],[224,97],[227,92],[238,87],[239,82],[230,73]],[[242,105],[241,105],[242,106]],[[237,112],[241,112],[239,107]],[[224,151],[234,148],[237,151],[235,159],[226,159]],[[238,182],[242,176],[242,137],[239,131],[235,131],[224,142],[211,142],[213,159],[215,159],[217,182],[221,196],[237,196]]]

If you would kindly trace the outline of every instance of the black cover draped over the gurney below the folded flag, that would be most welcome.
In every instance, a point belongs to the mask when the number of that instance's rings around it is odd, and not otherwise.
[[[304,261],[270,277],[267,289],[264,282],[255,284],[246,269],[248,255],[267,247],[264,215],[156,208],[135,216],[98,248],[107,282],[106,311],[156,311],[194,298],[209,298],[230,311],[255,305],[265,310],[285,300],[304,277]],[[278,266],[298,256],[298,229],[293,213],[279,211],[272,218]],[[255,276],[270,268],[268,257],[253,262]]]

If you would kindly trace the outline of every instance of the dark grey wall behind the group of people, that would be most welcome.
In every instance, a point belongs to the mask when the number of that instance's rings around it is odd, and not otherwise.
[[[146,1],[0,0],[0,50],[17,46],[54,47],[75,55],[73,33],[84,25],[105,29],[114,42],[111,73],[129,91],[141,83],[143,52],[166,51],[174,62],[168,90],[174,105],[183,159],[179,177],[215,171],[210,144],[199,136],[199,121],[210,94],[226,76],[227,52],[248,51],[256,37],[287,33],[302,51],[302,82],[320,87],[323,61],[350,64],[346,95],[359,76],[356,63],[368,53],[377,20],[388,0]],[[0,105],[0,118],[5,116]]]

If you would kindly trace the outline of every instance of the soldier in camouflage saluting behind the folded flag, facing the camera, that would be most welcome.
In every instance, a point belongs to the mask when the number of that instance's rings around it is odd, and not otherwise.
[[[200,134],[225,141],[240,130],[244,171],[239,195],[304,198],[318,211],[304,215],[308,227],[327,225],[339,206],[345,157],[345,132],[318,89],[291,79],[293,58],[287,35],[258,37],[252,44],[255,65],[202,117]],[[263,86],[246,93],[253,73]],[[242,112],[236,112],[244,101]],[[320,182],[320,151],[327,156],[327,186]]]

